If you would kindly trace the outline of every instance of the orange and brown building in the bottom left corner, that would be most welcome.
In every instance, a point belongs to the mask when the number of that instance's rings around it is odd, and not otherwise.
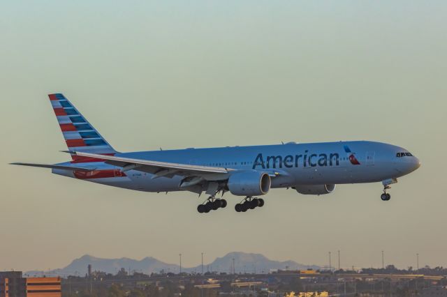
[[[61,297],[60,277],[22,277],[20,271],[0,272],[0,297]]]

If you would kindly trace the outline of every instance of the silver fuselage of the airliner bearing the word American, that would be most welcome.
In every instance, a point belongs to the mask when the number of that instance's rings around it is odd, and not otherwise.
[[[350,153],[346,152],[349,148]],[[398,153],[406,149],[380,142],[325,142],[309,144],[279,144],[267,146],[232,146],[221,148],[186,148],[168,151],[141,151],[117,153],[124,158],[172,162],[210,167],[225,167],[236,170],[258,170],[276,175],[272,188],[288,188],[296,185],[321,185],[343,183],[374,183],[399,178],[420,166],[418,158]],[[357,162],[353,162],[354,155]],[[61,165],[74,165],[72,162]],[[170,192],[182,190],[182,176],[160,177],[149,173],[129,170],[120,172],[105,162],[77,163],[76,166],[94,167],[93,174],[77,176],[75,172],[52,169],[54,174],[84,179],[94,183],[147,192]],[[215,176],[225,179],[228,176]]]

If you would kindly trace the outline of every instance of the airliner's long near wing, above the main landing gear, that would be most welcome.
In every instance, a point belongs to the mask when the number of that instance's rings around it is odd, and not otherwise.
[[[115,157],[112,155],[99,155],[96,153],[71,152],[74,155],[79,155],[87,158],[97,158],[104,160],[105,163],[122,167],[122,172],[129,170],[138,170],[140,172],[147,172],[154,174],[153,178],[166,176],[172,177],[174,175],[182,176],[204,176],[209,174],[228,174],[233,169],[223,167],[209,167],[189,164],[179,164],[171,162],[159,162],[142,159],[132,159]]]

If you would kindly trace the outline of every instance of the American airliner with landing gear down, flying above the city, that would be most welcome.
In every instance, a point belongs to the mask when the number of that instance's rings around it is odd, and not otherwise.
[[[405,148],[381,142],[321,142],[226,146],[120,153],[115,151],[61,93],[48,95],[71,160],[43,167],[53,174],[145,192],[189,191],[208,196],[199,213],[225,208],[223,194],[242,197],[235,211],[262,207],[272,188],[326,195],[337,184],[381,182],[383,201],[390,185],[420,167]],[[217,197],[221,195],[221,197]]]

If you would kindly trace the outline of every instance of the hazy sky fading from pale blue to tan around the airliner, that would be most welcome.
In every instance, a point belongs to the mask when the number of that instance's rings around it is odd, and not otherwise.
[[[0,1],[0,269],[82,254],[184,266],[230,251],[342,266],[447,266],[446,1]],[[68,156],[47,93],[119,151],[369,139],[423,166],[321,197],[200,215],[152,194],[8,162]]]

